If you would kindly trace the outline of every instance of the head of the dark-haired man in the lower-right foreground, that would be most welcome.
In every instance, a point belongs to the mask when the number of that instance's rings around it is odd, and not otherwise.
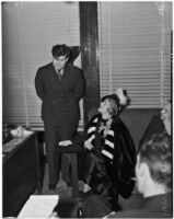
[[[143,197],[161,195],[172,189],[172,147],[166,134],[153,135],[140,146],[136,177]]]

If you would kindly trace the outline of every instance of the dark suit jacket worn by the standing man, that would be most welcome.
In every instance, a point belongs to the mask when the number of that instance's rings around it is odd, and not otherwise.
[[[57,125],[70,123],[72,118],[79,119],[79,101],[84,92],[81,69],[67,64],[60,81],[50,62],[37,70],[35,88],[43,101],[42,118],[45,123]]]

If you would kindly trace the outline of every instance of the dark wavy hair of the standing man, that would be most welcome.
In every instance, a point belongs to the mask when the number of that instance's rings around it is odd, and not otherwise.
[[[59,57],[59,56],[70,56],[70,48],[66,45],[55,45],[51,49],[51,54],[54,57]]]

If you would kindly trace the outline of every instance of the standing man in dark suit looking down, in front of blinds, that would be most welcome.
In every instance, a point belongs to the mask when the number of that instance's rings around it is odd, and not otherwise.
[[[49,166],[49,189],[54,191],[58,181],[58,142],[66,146],[77,130],[80,108],[79,101],[83,96],[84,80],[82,70],[68,64],[70,47],[55,45],[51,49],[53,62],[40,67],[35,78],[36,93],[42,100],[42,119],[45,126],[46,155]],[[63,143],[65,142],[65,143]],[[61,158],[61,173],[69,182],[70,154]]]

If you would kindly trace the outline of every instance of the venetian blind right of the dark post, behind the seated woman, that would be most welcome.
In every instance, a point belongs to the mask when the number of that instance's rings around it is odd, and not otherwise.
[[[132,108],[171,99],[172,2],[98,2],[101,95],[124,88]]]

